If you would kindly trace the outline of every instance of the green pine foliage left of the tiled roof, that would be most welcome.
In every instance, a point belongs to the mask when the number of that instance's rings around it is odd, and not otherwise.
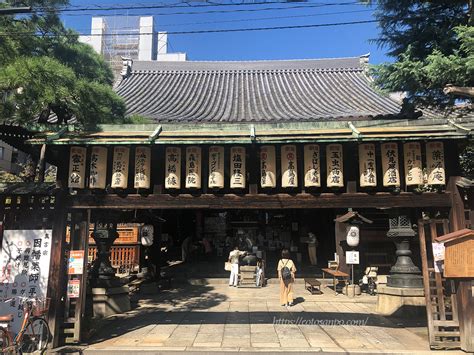
[[[0,16],[0,119],[28,124],[74,118],[82,127],[124,122],[125,104],[112,90],[109,65],[59,19],[58,7],[68,1],[23,3],[37,11]]]

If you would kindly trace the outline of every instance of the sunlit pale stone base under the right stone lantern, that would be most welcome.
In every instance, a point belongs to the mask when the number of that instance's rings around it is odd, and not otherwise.
[[[377,286],[377,306],[375,312],[378,314],[412,317],[414,313],[423,314],[426,310],[425,306],[426,301],[423,288]]]

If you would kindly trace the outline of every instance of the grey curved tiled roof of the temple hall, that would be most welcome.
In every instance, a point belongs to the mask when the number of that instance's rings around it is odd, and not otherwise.
[[[134,62],[116,90],[156,122],[282,122],[396,116],[365,57],[256,62]]]

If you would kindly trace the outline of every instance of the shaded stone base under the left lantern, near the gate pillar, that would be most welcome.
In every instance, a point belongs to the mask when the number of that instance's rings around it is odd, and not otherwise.
[[[127,312],[131,309],[128,286],[93,288],[92,303],[97,318]]]

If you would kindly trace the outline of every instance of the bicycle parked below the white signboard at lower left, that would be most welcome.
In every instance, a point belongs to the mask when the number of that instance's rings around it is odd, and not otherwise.
[[[23,321],[16,336],[10,331],[13,314],[0,316],[0,349],[2,354],[22,354],[43,351],[50,339],[49,326],[44,315],[49,309],[49,298],[24,299]],[[11,301],[10,299],[9,301]]]

